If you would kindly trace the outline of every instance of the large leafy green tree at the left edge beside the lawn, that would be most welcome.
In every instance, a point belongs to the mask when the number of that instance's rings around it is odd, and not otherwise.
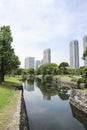
[[[20,61],[15,55],[14,49],[11,46],[13,38],[11,36],[10,26],[0,28],[0,82],[4,81],[6,73],[15,70]]]

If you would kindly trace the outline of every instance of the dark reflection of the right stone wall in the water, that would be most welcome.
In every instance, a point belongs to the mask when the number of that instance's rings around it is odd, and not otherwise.
[[[72,110],[73,117],[76,118],[78,121],[80,121],[86,128],[85,130],[87,130],[87,114],[81,112],[76,107],[74,107],[72,104],[70,104],[70,107]]]

